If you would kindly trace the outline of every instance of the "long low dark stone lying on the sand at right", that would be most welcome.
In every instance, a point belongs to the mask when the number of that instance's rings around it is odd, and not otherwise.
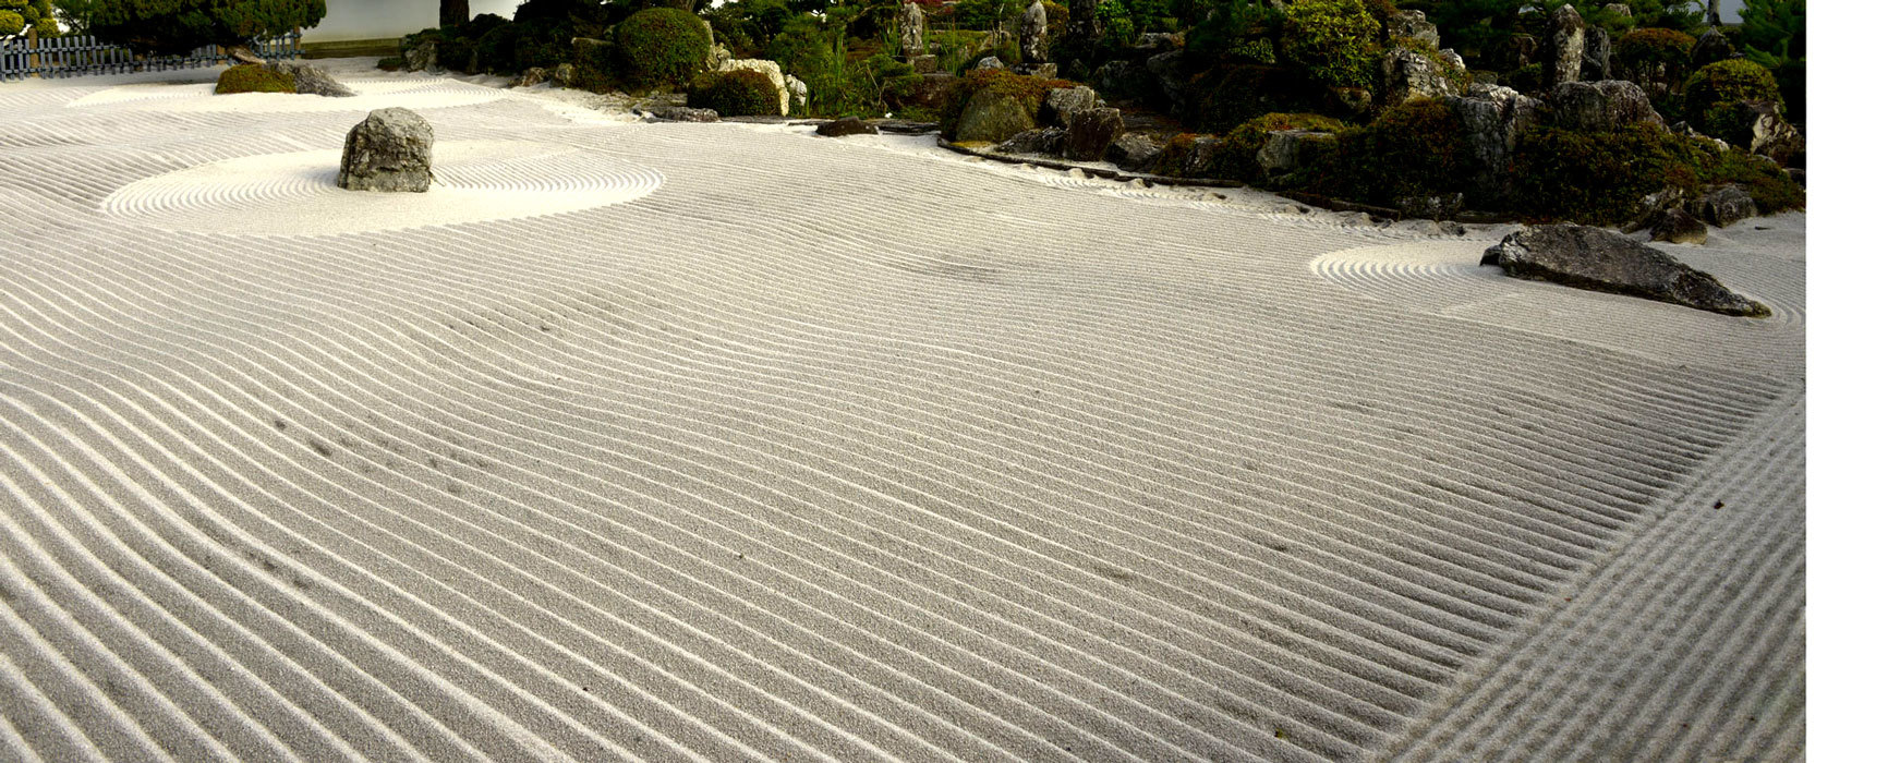
[[[1643,297],[1726,315],[1769,315],[1769,308],[1671,255],[1586,225],[1526,227],[1492,246],[1482,264],[1512,278]]]

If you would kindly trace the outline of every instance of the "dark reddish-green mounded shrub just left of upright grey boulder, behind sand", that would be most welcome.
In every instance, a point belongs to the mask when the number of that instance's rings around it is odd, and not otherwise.
[[[1461,191],[1469,176],[1461,121],[1448,104],[1418,98],[1339,132],[1337,147],[1310,174],[1310,191],[1395,206],[1403,196]]]

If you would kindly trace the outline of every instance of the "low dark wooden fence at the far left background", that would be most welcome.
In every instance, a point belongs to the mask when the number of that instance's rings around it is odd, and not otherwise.
[[[298,59],[302,32],[257,40],[251,49],[262,59]],[[164,72],[177,68],[215,66],[228,60],[217,45],[204,45],[189,55],[140,57],[94,38],[66,36],[38,40],[23,36],[0,42],[0,81],[26,77],[76,77],[81,74]]]

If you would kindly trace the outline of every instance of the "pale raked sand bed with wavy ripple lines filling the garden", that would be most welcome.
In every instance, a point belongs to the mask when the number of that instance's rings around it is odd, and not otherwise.
[[[4,757],[1803,755],[1803,215],[1737,319],[336,74],[0,85]]]

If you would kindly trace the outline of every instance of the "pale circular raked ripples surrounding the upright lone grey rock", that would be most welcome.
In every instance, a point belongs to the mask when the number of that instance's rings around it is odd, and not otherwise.
[[[589,210],[663,185],[612,155],[532,142],[447,142],[427,193],[344,191],[340,149],[228,159],[145,178],[104,200],[108,215],[183,232],[310,236],[478,223]]]

